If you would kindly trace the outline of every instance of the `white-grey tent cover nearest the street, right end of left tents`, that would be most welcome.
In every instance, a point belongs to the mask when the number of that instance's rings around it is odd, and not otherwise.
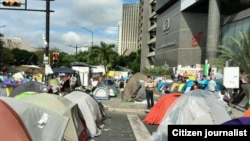
[[[103,127],[103,116],[97,101],[91,97],[89,94],[81,91],[73,91],[67,95],[65,98],[70,101],[77,103],[82,115],[85,119],[89,136],[95,137],[101,134],[100,127]]]

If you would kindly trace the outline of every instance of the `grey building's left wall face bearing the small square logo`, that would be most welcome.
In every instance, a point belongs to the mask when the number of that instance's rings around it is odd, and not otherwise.
[[[169,28],[163,29],[164,22],[169,19]],[[179,44],[180,2],[157,16],[157,41],[155,51],[155,66],[162,66],[165,62],[170,66],[177,64],[177,48]]]

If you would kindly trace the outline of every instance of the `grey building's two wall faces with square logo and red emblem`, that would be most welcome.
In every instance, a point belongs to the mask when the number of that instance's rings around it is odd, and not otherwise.
[[[168,30],[163,23],[169,19]],[[177,65],[195,65],[205,61],[207,14],[180,12],[180,1],[157,17],[156,66],[165,62]],[[195,42],[196,41],[196,42]]]

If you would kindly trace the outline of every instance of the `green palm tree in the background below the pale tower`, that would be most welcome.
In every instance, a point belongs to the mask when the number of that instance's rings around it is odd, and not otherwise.
[[[108,65],[118,56],[118,53],[115,51],[115,44],[101,42],[101,46],[93,46],[91,48],[91,56],[99,60],[100,64],[105,68],[105,74],[107,74]]]

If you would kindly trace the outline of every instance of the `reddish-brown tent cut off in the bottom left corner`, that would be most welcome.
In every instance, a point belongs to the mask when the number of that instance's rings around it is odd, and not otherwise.
[[[19,115],[3,100],[0,100],[0,140],[1,141],[31,141]]]

